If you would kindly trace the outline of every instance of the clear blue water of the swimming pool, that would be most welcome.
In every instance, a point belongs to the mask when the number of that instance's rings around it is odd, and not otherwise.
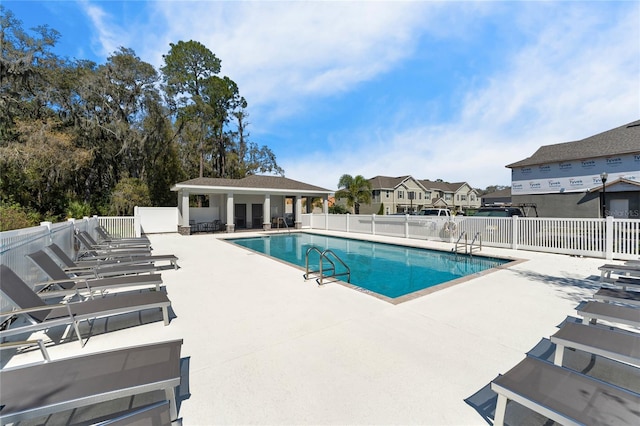
[[[351,284],[389,298],[404,296],[510,262],[297,232],[230,241],[302,268],[305,267],[305,255],[310,247],[315,246],[320,251],[331,249],[351,269]],[[313,270],[319,268],[317,253],[310,255],[309,265]],[[336,269],[338,272],[344,270],[338,263]],[[341,279],[346,281],[346,277]]]

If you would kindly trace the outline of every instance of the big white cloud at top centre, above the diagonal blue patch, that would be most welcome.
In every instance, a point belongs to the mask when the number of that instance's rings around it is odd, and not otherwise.
[[[165,43],[197,40],[222,59],[252,109],[289,116],[306,97],[353,89],[415,49],[439,6],[422,2],[159,2]],[[157,63],[156,65],[160,65]]]

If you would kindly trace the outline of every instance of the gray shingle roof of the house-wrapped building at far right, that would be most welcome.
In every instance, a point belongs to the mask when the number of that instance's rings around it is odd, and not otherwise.
[[[533,166],[637,152],[640,152],[640,120],[579,141],[541,146],[531,157],[506,167]]]

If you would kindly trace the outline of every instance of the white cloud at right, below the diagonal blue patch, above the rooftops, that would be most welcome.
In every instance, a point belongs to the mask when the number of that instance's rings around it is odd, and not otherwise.
[[[466,94],[458,118],[386,135],[386,145],[369,134],[356,144],[359,148],[298,157],[283,164],[285,170],[330,189],[344,173],[411,174],[481,188],[509,185],[504,166],[541,145],[582,139],[638,119],[639,9],[613,23],[606,21],[610,16],[599,18],[588,10],[569,12],[548,21],[521,16],[538,21],[536,37],[505,58],[485,87]]]

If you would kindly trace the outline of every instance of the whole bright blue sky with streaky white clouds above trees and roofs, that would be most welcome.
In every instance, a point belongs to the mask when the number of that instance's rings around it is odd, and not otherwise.
[[[638,1],[14,1],[62,56],[120,46],[156,69],[197,40],[287,177],[510,185],[541,145],[640,118]]]

